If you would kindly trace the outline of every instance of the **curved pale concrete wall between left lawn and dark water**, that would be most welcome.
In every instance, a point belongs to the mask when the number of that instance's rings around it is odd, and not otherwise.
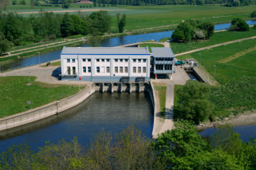
[[[24,124],[29,124],[30,122],[38,121],[51,115],[58,114],[61,111],[67,110],[83,102],[94,92],[95,86],[92,84],[82,91],[60,101],[55,101],[46,104],[45,106],[37,107],[29,111],[24,111],[22,113],[10,115],[9,117],[1,118],[0,131]]]

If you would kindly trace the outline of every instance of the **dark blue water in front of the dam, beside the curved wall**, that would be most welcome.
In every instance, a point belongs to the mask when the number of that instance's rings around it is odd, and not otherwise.
[[[129,125],[151,138],[154,113],[148,93],[94,93],[83,103],[45,120],[0,133],[0,152],[12,144],[27,142],[33,150],[44,142],[70,140],[77,136],[86,145],[102,128],[119,132]]]

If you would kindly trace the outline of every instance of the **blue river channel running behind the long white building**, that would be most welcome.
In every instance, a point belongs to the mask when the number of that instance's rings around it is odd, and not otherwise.
[[[247,23],[250,25],[253,25],[253,24],[256,24],[256,20],[248,20]],[[230,26],[230,23],[217,24],[215,25],[214,30],[223,30],[223,29],[229,28],[229,26]],[[104,46],[104,47],[110,47],[110,46],[132,44],[134,42],[140,42],[140,41],[148,41],[151,39],[155,39],[156,41],[159,41],[159,39],[161,38],[170,37],[172,35],[172,32],[173,31],[163,31],[163,32],[152,32],[152,33],[138,34],[138,35],[126,35],[123,37],[104,39],[100,44],[101,46]],[[83,46],[88,46],[88,44],[84,44]],[[54,52],[48,52],[40,55],[40,60],[38,55],[29,57],[26,59],[20,59],[20,60],[17,60],[15,63],[5,64],[4,66],[1,66],[0,71],[40,64],[39,61],[41,61],[41,63],[49,62],[52,60],[59,59],[60,54],[61,54],[61,50],[56,50]]]

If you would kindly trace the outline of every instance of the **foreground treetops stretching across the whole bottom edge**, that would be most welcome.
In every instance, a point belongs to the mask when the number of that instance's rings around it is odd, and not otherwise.
[[[202,139],[189,121],[151,140],[134,126],[113,135],[101,131],[87,146],[46,142],[34,152],[27,144],[0,154],[0,169],[254,169],[256,139],[243,142],[232,126],[219,126]]]

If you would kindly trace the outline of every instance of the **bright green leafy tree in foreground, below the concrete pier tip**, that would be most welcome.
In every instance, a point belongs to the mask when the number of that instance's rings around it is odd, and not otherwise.
[[[191,160],[195,154],[207,150],[207,141],[197,135],[197,128],[189,121],[177,121],[175,129],[158,136],[153,143],[154,151],[172,169],[190,169]]]

